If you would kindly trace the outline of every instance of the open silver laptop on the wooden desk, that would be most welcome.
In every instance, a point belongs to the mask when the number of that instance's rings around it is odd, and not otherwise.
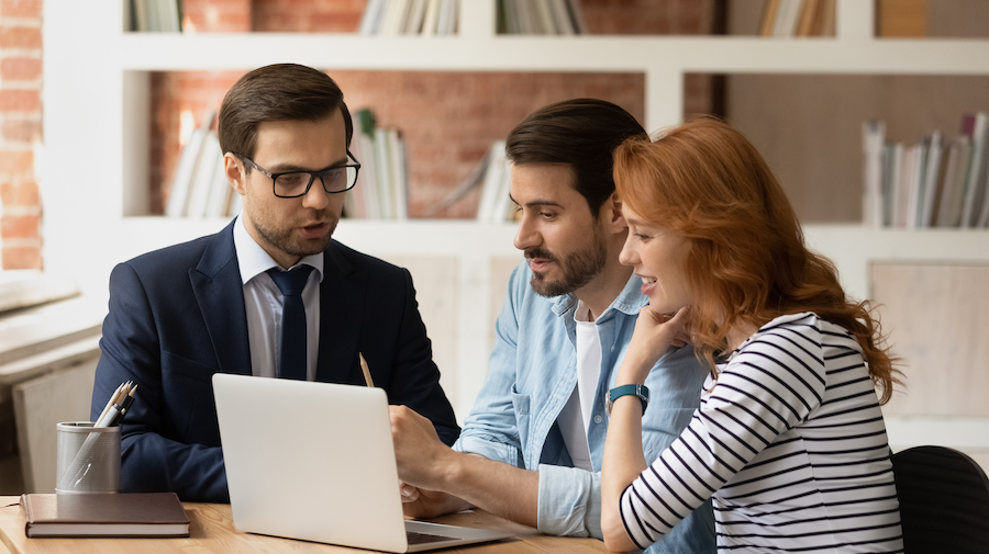
[[[386,552],[512,536],[404,521],[380,388],[216,373],[213,394],[242,531]]]

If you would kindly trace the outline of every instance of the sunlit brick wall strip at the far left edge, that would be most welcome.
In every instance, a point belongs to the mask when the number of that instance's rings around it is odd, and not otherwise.
[[[41,269],[41,0],[0,0],[0,260]]]

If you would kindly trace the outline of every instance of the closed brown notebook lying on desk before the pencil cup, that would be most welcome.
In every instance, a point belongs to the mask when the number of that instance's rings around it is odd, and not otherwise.
[[[29,538],[189,536],[189,518],[175,493],[25,494],[20,504]]]

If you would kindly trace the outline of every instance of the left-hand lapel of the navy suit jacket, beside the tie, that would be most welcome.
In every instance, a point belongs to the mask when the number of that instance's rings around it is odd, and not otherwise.
[[[233,244],[231,222],[211,238],[199,265],[189,270],[189,280],[202,319],[216,352],[220,371],[251,375],[251,344],[241,267]]]

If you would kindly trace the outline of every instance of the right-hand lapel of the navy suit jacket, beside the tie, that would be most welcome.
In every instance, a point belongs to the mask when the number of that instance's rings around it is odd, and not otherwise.
[[[341,255],[336,241],[323,256],[320,284],[320,355],[316,381],[363,384],[357,363],[357,338],[364,321],[367,279]],[[367,358],[367,354],[365,354]]]

